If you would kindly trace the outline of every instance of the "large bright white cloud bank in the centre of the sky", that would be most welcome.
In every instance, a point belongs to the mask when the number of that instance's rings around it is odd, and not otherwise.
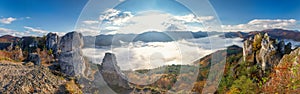
[[[146,11],[137,15],[131,12],[121,12],[115,9],[105,11],[100,17],[103,23],[101,31],[112,33],[143,33],[148,30],[156,31],[200,31],[203,30],[201,23],[213,20],[213,16],[197,17],[193,14],[175,16],[158,11]],[[195,25],[195,23],[197,25]],[[191,25],[193,24],[193,25]],[[118,27],[106,29],[106,26]],[[105,32],[106,33],[106,32]]]

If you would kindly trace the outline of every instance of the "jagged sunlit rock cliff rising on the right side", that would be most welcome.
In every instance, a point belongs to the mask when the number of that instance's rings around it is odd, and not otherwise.
[[[284,54],[290,53],[291,44],[272,39],[267,33],[258,33],[244,42],[243,59],[252,65],[259,65],[260,69],[270,71],[276,66]]]

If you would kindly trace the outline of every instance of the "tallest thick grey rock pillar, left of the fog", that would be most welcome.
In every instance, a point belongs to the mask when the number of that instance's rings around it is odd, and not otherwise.
[[[79,76],[86,69],[82,55],[83,37],[77,32],[70,32],[63,36],[59,43],[60,54],[58,62],[62,73],[68,76]]]

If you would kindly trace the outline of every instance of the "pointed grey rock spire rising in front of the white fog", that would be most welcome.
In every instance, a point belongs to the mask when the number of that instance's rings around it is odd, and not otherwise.
[[[99,67],[99,71],[109,86],[129,89],[128,81],[120,71],[114,54],[105,54],[103,62]]]

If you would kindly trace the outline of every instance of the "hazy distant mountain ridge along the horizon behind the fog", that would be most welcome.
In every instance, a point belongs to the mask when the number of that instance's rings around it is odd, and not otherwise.
[[[267,29],[262,31],[252,32],[191,32],[191,31],[166,31],[157,32],[149,31],[141,34],[115,34],[115,35],[97,35],[97,36],[84,36],[84,47],[95,46],[119,46],[122,42],[170,42],[180,39],[192,39],[203,38],[211,35],[220,35],[225,38],[243,38],[248,39],[253,37],[257,33],[268,33],[270,37],[275,39],[288,39],[294,41],[300,41],[300,32],[294,30],[284,29]],[[4,35],[0,37],[0,43],[17,43],[17,41],[36,40],[38,41],[42,37],[15,37],[11,35]],[[32,42],[31,42],[32,43]],[[24,48],[24,47],[22,47]]]

